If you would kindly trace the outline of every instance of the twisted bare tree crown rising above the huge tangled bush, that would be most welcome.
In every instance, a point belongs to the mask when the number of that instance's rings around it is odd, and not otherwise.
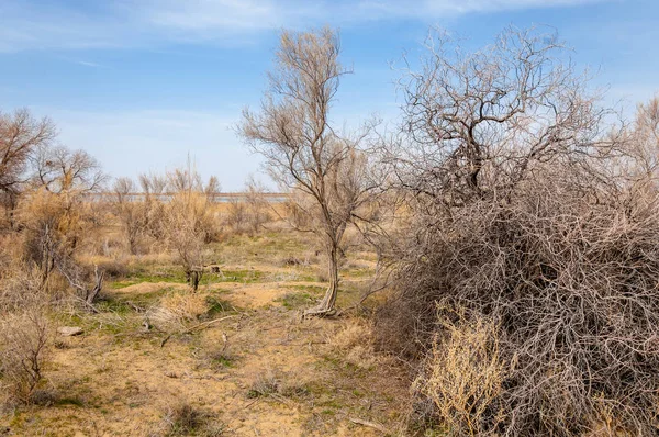
[[[426,47],[421,70],[401,79],[406,138],[394,160],[403,187],[459,206],[504,198],[547,160],[602,153],[611,111],[561,61],[555,35],[510,27],[467,53],[436,31]]]

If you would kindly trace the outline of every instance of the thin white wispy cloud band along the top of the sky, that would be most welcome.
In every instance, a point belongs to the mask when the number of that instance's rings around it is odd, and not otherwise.
[[[0,52],[157,46],[167,42],[231,44],[283,26],[423,21],[470,13],[574,7],[607,0],[118,0],[4,1]],[[68,4],[68,5],[67,5]]]

